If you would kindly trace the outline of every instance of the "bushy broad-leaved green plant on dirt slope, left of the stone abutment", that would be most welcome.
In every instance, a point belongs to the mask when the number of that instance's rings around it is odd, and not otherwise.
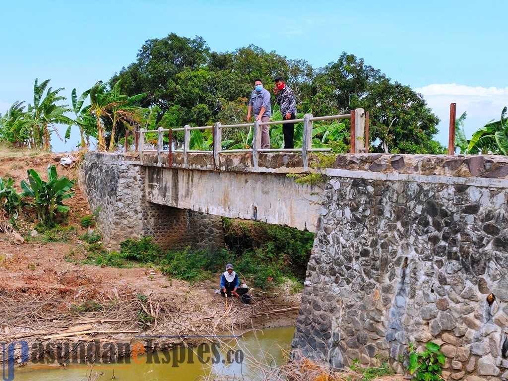
[[[75,181],[65,176],[57,177],[56,167],[49,166],[47,170],[48,181],[43,181],[41,176],[33,169],[27,171],[28,182],[21,181],[23,189],[22,197],[32,199],[31,206],[37,211],[37,217],[43,223],[51,224],[56,212],[66,213],[70,210],[63,205],[63,201],[74,196],[71,188]]]

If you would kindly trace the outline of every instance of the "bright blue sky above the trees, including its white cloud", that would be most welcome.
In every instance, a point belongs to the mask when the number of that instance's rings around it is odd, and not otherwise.
[[[468,112],[469,134],[508,105],[508,1],[3,2],[0,112],[31,102],[35,78],[70,97],[108,80],[148,39],[201,36],[215,51],[249,44],[313,67],[342,51],[424,94],[447,142],[451,102]],[[53,138],[54,150],[69,150]]]

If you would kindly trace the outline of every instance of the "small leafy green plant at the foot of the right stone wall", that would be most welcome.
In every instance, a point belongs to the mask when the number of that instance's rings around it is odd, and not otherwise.
[[[440,345],[428,342],[426,347],[426,351],[418,353],[415,345],[409,344],[407,370],[410,374],[414,374],[419,381],[438,381],[441,379],[440,374],[446,359],[440,351]]]

